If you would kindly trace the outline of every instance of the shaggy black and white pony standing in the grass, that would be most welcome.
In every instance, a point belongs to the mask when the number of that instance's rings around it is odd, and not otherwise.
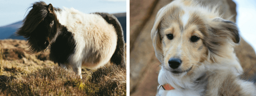
[[[16,33],[27,38],[30,52],[51,49],[54,62],[80,76],[81,66],[95,69],[108,61],[126,68],[123,29],[115,16],[54,8],[42,1],[31,7]]]

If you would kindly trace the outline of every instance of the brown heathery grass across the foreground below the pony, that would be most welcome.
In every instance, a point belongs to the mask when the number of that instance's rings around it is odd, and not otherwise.
[[[80,79],[71,70],[47,66],[11,82],[7,80],[6,85],[4,95],[11,96],[125,96],[126,71],[115,64],[108,64],[92,72],[92,77],[83,74],[83,79]]]

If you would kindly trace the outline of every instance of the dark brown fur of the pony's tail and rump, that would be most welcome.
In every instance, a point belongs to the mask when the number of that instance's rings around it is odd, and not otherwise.
[[[117,35],[117,44],[116,44],[116,50],[111,57],[110,61],[112,63],[115,63],[116,65],[120,65],[122,68],[126,68],[125,65],[125,58],[124,58],[124,33],[122,26],[120,22],[117,20],[117,18],[108,13],[93,13],[93,14],[98,14],[102,18],[104,18],[109,24],[112,24],[116,30],[116,35]]]

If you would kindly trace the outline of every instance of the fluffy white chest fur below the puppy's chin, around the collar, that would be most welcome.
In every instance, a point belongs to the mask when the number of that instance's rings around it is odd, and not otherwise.
[[[193,81],[199,78],[205,72],[204,66],[196,69],[194,77],[186,76],[187,72],[175,76],[168,70],[161,68],[158,75],[158,83],[160,85],[170,84],[174,89],[165,91],[163,88],[159,89],[160,96],[201,96],[204,92],[206,83],[196,85]]]

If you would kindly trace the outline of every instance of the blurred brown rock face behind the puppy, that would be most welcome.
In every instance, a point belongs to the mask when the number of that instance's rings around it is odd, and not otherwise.
[[[130,0],[130,95],[155,96],[160,62],[156,59],[150,32],[156,13],[173,0]],[[203,4],[221,3],[224,19],[236,22],[236,4],[232,0],[199,0]],[[256,55],[241,38],[235,47],[236,56],[244,69],[242,78],[255,79]]]

